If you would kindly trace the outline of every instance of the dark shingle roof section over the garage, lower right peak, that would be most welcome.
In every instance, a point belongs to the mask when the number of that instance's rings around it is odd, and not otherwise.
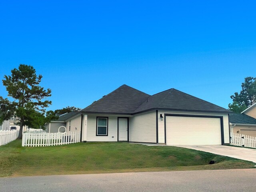
[[[150,109],[230,112],[229,110],[196,98],[176,89],[169,89],[147,98],[134,113]]]

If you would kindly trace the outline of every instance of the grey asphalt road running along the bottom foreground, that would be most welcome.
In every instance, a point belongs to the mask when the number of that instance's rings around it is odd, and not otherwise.
[[[255,192],[256,169],[0,178],[5,192]]]

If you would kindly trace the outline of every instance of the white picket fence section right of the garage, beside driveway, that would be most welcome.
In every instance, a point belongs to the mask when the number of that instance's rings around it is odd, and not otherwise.
[[[230,132],[230,144],[234,146],[256,148],[256,137]]]

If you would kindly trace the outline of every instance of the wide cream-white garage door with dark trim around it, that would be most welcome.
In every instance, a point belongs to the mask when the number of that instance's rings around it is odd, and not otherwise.
[[[220,118],[166,116],[167,145],[221,145]]]

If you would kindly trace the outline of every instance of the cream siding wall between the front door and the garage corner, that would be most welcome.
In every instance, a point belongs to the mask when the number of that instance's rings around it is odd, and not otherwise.
[[[129,141],[156,143],[156,111],[136,114],[130,118]]]

